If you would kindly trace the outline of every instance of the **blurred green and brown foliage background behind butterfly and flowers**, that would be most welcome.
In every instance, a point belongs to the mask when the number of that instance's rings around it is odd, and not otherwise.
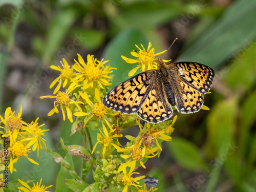
[[[204,104],[210,111],[178,115],[173,141],[163,142],[159,158],[149,159],[142,174],[159,178],[158,191],[255,191],[256,190],[256,1],[135,1],[135,0],[0,0],[0,113],[8,106],[23,120],[39,117],[45,123],[47,147],[65,156],[65,144],[81,144],[70,136],[71,124],[61,114],[47,116],[53,108],[50,83],[58,76],[50,65],[64,57],[70,65],[79,53],[110,60],[116,67],[113,86],[126,80],[136,66],[135,44],[173,61],[203,63],[216,72],[211,94]],[[138,133],[138,128],[131,129]],[[96,135],[96,133],[94,133]],[[94,138],[95,139],[95,138]],[[94,140],[95,143],[95,140]],[[60,165],[41,151],[15,165],[11,180],[40,178],[45,185],[56,178]],[[74,158],[79,173],[81,160]],[[89,176],[90,177],[90,176]],[[69,191],[56,189],[56,191]]]

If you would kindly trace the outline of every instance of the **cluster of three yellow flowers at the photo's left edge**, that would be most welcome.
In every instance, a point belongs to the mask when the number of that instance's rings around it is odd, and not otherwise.
[[[7,108],[5,111],[5,116],[1,118],[1,123],[3,126],[0,126],[2,129],[2,139],[4,140],[3,144],[3,156],[1,156],[1,163],[6,160],[10,160],[8,168],[12,173],[15,168],[13,164],[17,162],[20,157],[26,157],[30,162],[37,164],[36,161],[28,157],[28,153],[31,151],[37,150],[37,157],[39,149],[42,149],[42,145],[44,145],[45,149],[45,139],[42,138],[44,136],[45,131],[49,130],[41,130],[41,127],[44,126],[38,125],[38,119],[35,122],[26,123],[22,120],[22,105],[20,105],[20,111],[18,115],[15,115],[14,112],[11,111],[11,108]]]

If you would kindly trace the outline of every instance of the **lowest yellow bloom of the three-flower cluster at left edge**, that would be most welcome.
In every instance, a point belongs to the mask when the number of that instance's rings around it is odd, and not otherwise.
[[[9,130],[8,136],[10,137],[10,146],[8,148],[8,151],[10,152],[10,172],[13,172],[13,164],[20,158],[25,156],[30,162],[39,165],[37,162],[35,162],[33,159],[30,159],[28,157],[28,153],[30,153],[30,145],[23,143],[24,140],[16,141],[18,136],[18,130],[15,129],[13,132]]]

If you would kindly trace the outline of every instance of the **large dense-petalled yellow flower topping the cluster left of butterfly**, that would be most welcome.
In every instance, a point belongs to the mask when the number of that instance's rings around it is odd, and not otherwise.
[[[107,79],[112,78],[108,74],[113,72],[110,70],[116,69],[116,68],[104,66],[104,64],[108,61],[103,61],[103,59],[99,61],[96,58],[94,58],[93,55],[87,56],[87,63],[84,62],[81,55],[79,54],[77,55],[78,55],[79,62],[77,62],[74,59],[76,62],[74,65],[74,69],[78,73],[76,74],[76,77],[72,79],[73,81],[72,84],[77,84],[78,82],[82,82],[83,83],[83,87],[81,88],[82,90],[85,90],[89,87],[91,88],[96,87],[97,84],[101,89],[104,89],[103,86],[110,86],[111,83],[105,78]]]

